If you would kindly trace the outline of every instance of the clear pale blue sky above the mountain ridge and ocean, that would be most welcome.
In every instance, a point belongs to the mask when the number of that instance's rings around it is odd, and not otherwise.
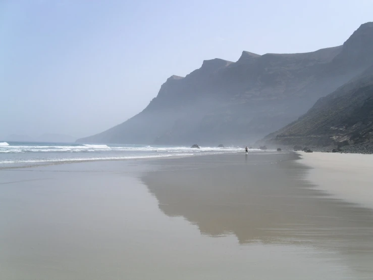
[[[203,60],[341,45],[371,11],[371,0],[0,0],[0,139],[101,132]]]

